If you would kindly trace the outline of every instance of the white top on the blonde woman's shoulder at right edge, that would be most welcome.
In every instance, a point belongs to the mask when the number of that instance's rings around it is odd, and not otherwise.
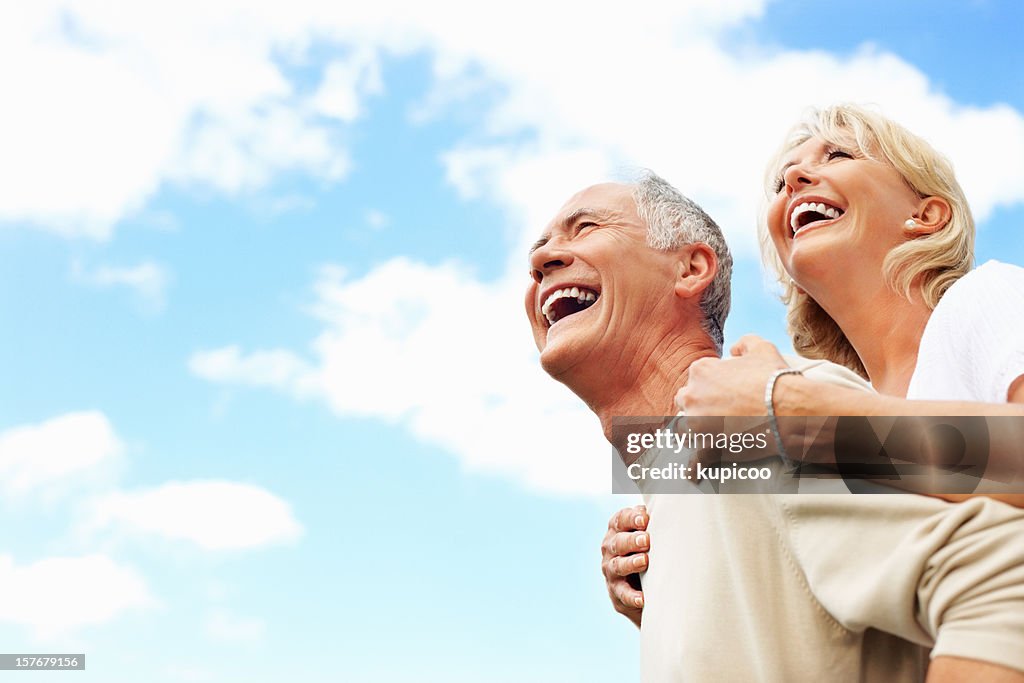
[[[1024,375],[1024,268],[988,261],[950,287],[925,327],[906,397],[1007,402]]]

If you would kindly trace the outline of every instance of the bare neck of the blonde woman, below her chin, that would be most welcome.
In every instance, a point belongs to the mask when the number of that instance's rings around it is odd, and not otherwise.
[[[866,295],[861,291],[849,296],[849,291],[818,303],[850,340],[874,389],[905,396],[931,309],[920,292],[908,301],[884,285]]]

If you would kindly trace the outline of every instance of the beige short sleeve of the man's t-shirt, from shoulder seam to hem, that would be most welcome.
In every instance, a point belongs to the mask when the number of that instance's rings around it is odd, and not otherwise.
[[[782,507],[811,592],[843,627],[1024,671],[1024,511],[905,494]]]

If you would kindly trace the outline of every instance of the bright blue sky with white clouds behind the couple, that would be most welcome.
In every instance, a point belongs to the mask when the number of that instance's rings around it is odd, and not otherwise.
[[[979,261],[1024,264],[1018,3],[278,4],[0,22],[0,650],[636,680],[598,569],[633,501],[520,312],[560,203],[658,171],[736,251],[727,341],[783,343],[762,165],[873,102],[953,160]]]

